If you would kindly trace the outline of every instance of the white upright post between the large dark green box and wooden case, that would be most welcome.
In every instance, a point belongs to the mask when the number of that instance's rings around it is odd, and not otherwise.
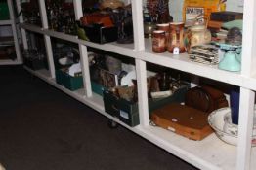
[[[143,25],[143,1],[132,0],[133,13],[133,30],[134,30],[134,51],[143,51],[145,49]],[[146,62],[135,59],[136,75],[138,81],[138,104],[140,113],[140,124],[149,125],[149,106],[148,106],[148,89],[147,89],[147,69]]]

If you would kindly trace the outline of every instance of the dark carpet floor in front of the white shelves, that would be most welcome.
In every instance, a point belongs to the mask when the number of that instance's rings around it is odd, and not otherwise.
[[[21,66],[0,66],[0,162],[7,170],[194,170]]]

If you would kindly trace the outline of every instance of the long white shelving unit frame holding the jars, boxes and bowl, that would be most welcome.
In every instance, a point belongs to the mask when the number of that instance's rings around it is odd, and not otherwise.
[[[76,18],[82,16],[81,0],[73,0]],[[171,53],[156,54],[151,51],[149,39],[144,39],[142,0],[131,0],[134,23],[134,44],[121,45],[117,43],[95,44],[79,40],[76,36],[48,30],[47,17],[44,1],[39,0],[41,19],[43,27],[21,23],[21,34],[23,46],[27,49],[25,31],[29,30],[44,35],[46,50],[48,54],[49,70],[33,71],[26,68],[32,74],[44,81],[63,90],[73,98],[92,107],[109,119],[122,124],[131,131],[148,139],[155,145],[163,148],[169,153],[175,154],[185,161],[200,169],[227,169],[227,170],[253,170],[256,169],[256,149],[251,147],[251,134],[253,126],[253,108],[256,90],[256,2],[254,0],[244,1],[243,19],[243,51],[242,68],[240,73],[219,70],[215,66],[206,66],[189,60],[188,54],[172,55]],[[19,1],[17,2],[20,5]],[[21,7],[18,7],[18,9]],[[22,20],[22,19],[21,19]],[[55,81],[55,68],[50,38],[64,39],[79,45],[82,72],[85,88],[77,91],[69,91]],[[136,61],[136,72],[138,81],[140,125],[129,127],[118,119],[105,113],[103,99],[92,92],[87,57],[87,47],[111,51],[132,57]],[[192,141],[175,133],[159,127],[149,125],[148,96],[146,63],[188,72],[200,77],[209,78],[223,83],[240,86],[240,117],[239,135],[237,147],[222,142],[215,134],[211,134],[202,141]]]

